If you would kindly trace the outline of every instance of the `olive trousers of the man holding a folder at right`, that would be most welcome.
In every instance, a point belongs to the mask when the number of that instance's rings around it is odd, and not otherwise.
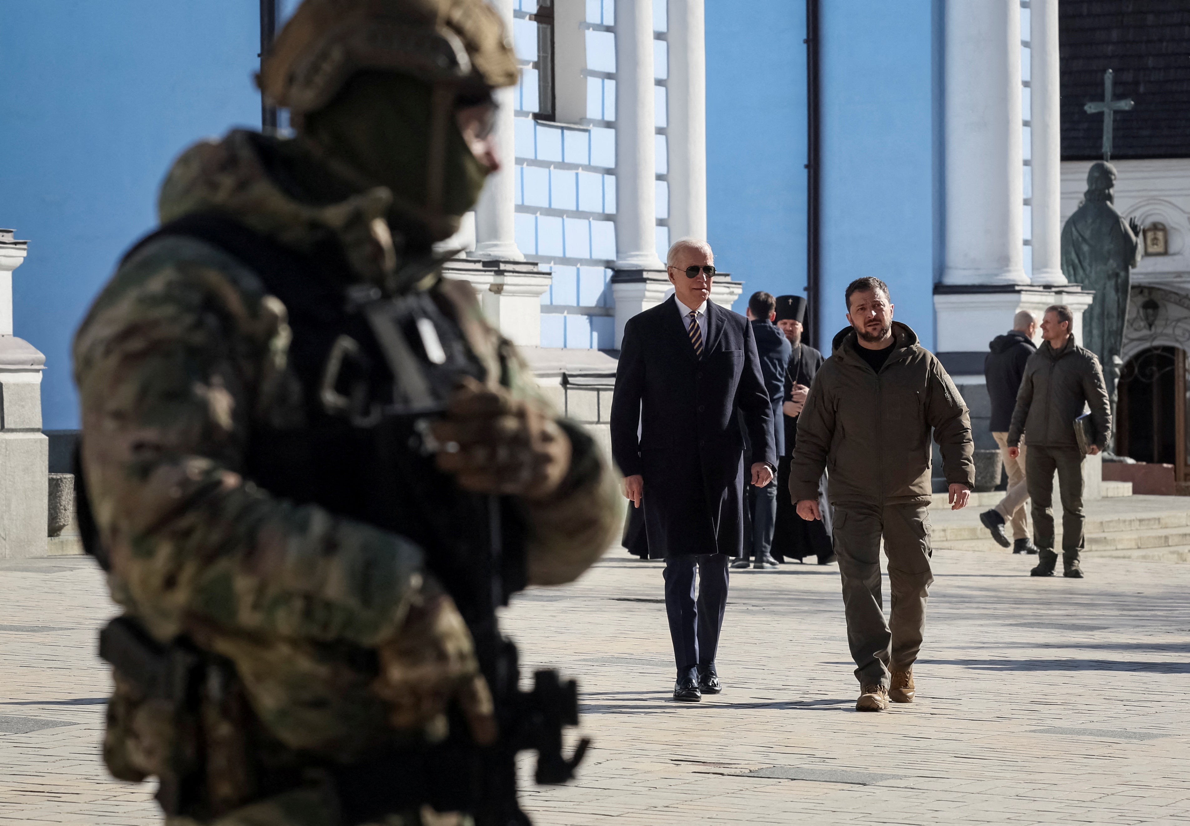
[[[1083,452],[1077,447],[1029,444],[1025,456],[1025,480],[1033,500],[1033,543],[1040,559],[1053,551],[1053,474],[1061,486],[1061,555],[1077,562],[1083,550]]]

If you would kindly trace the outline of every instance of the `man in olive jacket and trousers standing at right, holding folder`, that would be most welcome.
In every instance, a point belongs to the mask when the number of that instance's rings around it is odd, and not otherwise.
[[[1021,436],[1028,444],[1026,479],[1033,499],[1033,541],[1038,565],[1031,574],[1053,576],[1058,555],[1053,550],[1053,474],[1061,486],[1063,576],[1082,579],[1078,556],[1083,549],[1083,452],[1075,435],[1075,420],[1091,408],[1094,443],[1102,450],[1111,435],[1111,405],[1103,371],[1095,353],[1075,343],[1073,314],[1054,304],[1041,319],[1044,342],[1025,365],[1016,409],[1008,429],[1008,453],[1020,455]]]

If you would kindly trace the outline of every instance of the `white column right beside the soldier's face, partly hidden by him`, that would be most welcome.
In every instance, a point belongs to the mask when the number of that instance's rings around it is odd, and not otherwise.
[[[512,38],[513,0],[493,0],[505,31]],[[496,113],[494,133],[500,152],[500,171],[488,176],[488,182],[475,204],[475,252],[474,258],[499,258],[509,261],[525,260],[516,248],[515,191],[513,172],[516,165],[516,146],[513,134],[513,89],[497,89],[494,93],[500,111]]]

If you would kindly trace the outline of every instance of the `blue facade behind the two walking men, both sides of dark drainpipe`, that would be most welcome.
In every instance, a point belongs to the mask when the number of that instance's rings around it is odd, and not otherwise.
[[[889,284],[934,343],[941,269],[938,0],[831,0],[820,11],[818,343],[846,324],[854,278]],[[757,290],[804,295],[806,4],[707,0],[707,216],[716,261]],[[763,20],[764,25],[756,25]]]

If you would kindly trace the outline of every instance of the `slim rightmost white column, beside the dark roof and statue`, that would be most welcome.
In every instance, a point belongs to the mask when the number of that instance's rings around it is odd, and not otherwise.
[[[1058,0],[1029,6],[1033,99],[1033,283],[1065,284],[1061,275],[1061,97],[1058,77]]]

